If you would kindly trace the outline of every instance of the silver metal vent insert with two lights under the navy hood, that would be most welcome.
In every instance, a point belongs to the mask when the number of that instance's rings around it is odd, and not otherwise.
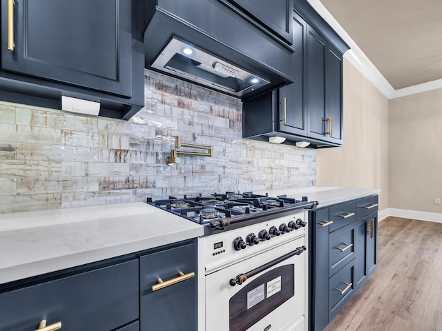
[[[270,83],[202,48],[173,37],[152,67],[237,97]]]

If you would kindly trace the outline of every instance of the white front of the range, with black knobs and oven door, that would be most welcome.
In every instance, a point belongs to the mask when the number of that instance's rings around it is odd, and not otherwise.
[[[305,219],[302,210],[200,239],[206,331],[307,330]]]

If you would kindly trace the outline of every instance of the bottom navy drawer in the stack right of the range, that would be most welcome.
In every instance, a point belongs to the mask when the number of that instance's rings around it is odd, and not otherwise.
[[[354,261],[329,279],[329,321],[343,308],[354,292]]]

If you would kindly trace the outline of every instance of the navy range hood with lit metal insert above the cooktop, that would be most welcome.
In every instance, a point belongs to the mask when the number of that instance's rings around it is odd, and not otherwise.
[[[222,1],[146,1],[145,14],[148,69],[243,100],[293,82],[293,48]]]

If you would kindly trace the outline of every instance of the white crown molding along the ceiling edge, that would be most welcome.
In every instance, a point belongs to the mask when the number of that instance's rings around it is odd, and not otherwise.
[[[359,48],[356,42],[349,36],[347,31],[336,21],[336,19],[330,14],[320,0],[307,0],[310,6],[320,14],[323,19],[331,26],[339,36],[350,46],[350,50],[345,52],[344,57],[352,63],[352,65],[359,71],[365,78],[368,79],[376,88],[387,97],[387,99],[396,99],[405,97],[407,95],[426,92],[430,90],[436,90],[442,88],[442,79],[436,81],[430,81],[408,88],[401,88],[400,90],[394,90],[392,85],[383,77],[383,74],[374,66],[372,61],[369,60],[367,55]]]

